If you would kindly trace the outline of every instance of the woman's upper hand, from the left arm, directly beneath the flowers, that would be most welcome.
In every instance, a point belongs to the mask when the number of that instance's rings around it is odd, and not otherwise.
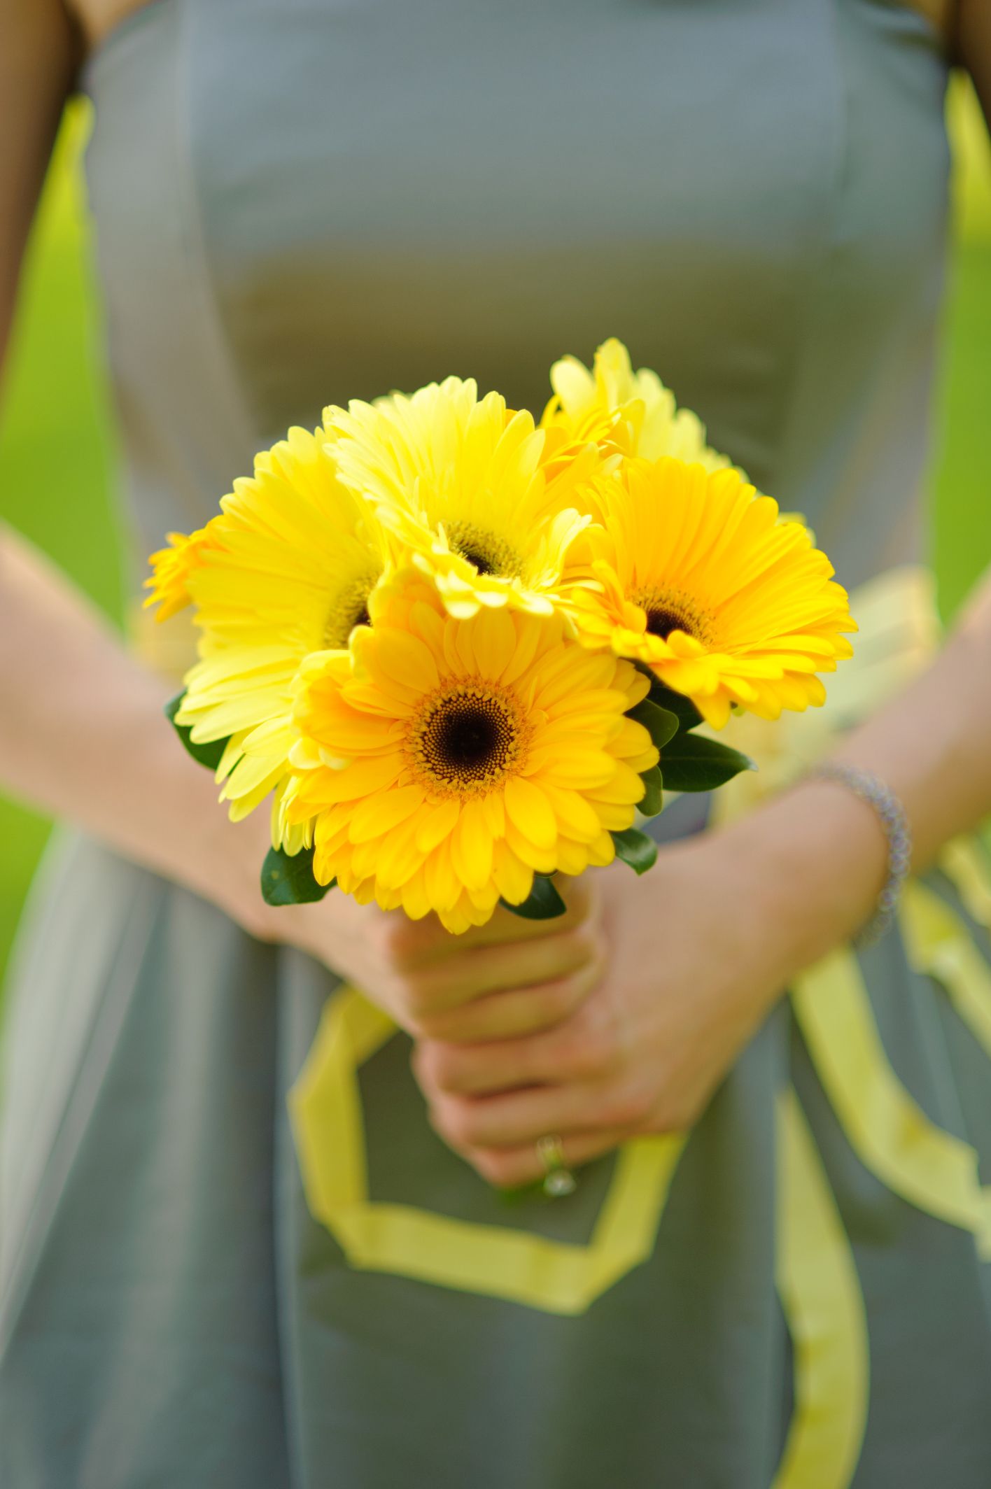
[[[414,1038],[455,1048],[522,1038],[577,1013],[604,968],[598,887],[592,876],[571,881],[557,920],[499,908],[463,935],[435,916],[414,922],[331,893],[273,910],[262,934],[325,962]]]

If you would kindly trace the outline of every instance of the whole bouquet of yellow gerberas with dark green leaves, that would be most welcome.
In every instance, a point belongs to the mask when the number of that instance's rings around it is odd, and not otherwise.
[[[551,386],[539,423],[455,377],[331,406],[152,555],[200,633],[168,716],[231,817],[271,797],[270,902],[559,914],[554,876],[650,868],[663,789],[750,767],[730,710],[851,655],[826,554],[656,374],[608,341]]]

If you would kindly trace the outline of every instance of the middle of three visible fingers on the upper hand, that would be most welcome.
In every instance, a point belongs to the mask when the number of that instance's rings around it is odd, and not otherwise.
[[[417,1004],[420,1013],[443,1013],[484,993],[556,983],[580,968],[599,966],[602,956],[602,938],[589,926],[478,947],[419,974]]]

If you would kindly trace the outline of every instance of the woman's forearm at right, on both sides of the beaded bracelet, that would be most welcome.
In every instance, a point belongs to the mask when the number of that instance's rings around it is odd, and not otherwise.
[[[936,663],[833,758],[872,771],[900,798],[916,871],[991,813],[991,582]],[[833,782],[794,786],[729,828],[724,850],[730,879],[757,883],[762,919],[782,926],[775,954],[785,978],[857,932],[887,876],[876,814]]]

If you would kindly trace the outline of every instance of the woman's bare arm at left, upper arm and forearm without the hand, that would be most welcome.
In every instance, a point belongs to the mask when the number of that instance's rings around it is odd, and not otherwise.
[[[0,360],[24,244],[80,58],[61,0],[0,6]],[[0,526],[0,786],[253,922],[264,814],[238,828],[171,737],[167,683]]]

